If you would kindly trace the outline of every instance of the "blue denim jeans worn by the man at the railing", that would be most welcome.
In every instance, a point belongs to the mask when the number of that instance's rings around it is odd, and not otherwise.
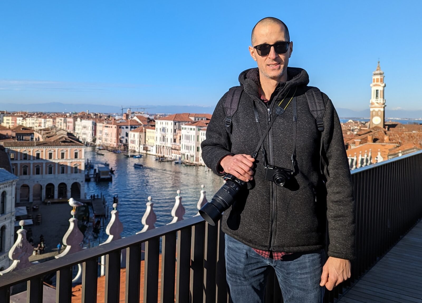
[[[230,302],[264,302],[270,267],[279,280],[284,303],[320,303],[324,287],[319,286],[324,251],[294,253],[282,260],[262,257],[251,247],[225,235],[226,277]]]

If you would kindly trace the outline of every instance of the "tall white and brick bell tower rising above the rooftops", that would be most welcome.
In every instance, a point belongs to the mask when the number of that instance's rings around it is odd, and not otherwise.
[[[376,70],[372,73],[372,83],[371,83],[371,104],[369,106],[371,111],[371,118],[369,121],[369,128],[374,126],[379,126],[384,128],[384,119],[385,119],[385,99],[384,99],[384,72],[378,66]]]

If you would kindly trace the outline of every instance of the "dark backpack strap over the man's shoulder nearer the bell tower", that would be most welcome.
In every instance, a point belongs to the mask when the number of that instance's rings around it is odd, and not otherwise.
[[[322,92],[316,87],[308,89],[308,91],[305,92],[305,96],[306,100],[308,100],[309,111],[311,111],[312,116],[314,116],[317,128],[321,132],[321,141],[319,145],[319,172],[321,175],[324,175],[322,170],[322,132],[324,131],[324,121],[322,120],[322,116],[324,116],[325,112],[324,98],[322,97]]]

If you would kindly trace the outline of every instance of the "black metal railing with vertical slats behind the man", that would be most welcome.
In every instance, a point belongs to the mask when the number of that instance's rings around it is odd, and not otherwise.
[[[335,302],[422,217],[422,151],[352,171],[356,198],[357,259],[352,278],[326,292]],[[159,273],[160,237],[162,238]],[[141,243],[145,243],[143,302],[227,302],[224,236],[200,216],[157,227],[0,276],[0,302],[10,287],[27,282],[27,303],[42,302],[43,276],[57,272],[56,303],[68,303],[72,267],[82,263],[82,302],[97,298],[98,257],[106,255],[105,302],[119,302],[120,253],[126,249],[125,302],[140,302]],[[161,291],[158,278],[161,275]],[[266,302],[282,302],[278,281],[268,279]],[[142,287],[142,286],[141,286]]]

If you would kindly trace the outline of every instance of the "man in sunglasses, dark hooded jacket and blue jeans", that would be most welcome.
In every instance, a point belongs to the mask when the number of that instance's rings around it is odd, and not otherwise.
[[[308,74],[287,67],[292,51],[281,20],[264,18],[255,25],[249,52],[258,68],[239,76],[243,92],[231,135],[225,127],[226,93],[202,143],[203,160],[214,173],[254,182],[222,218],[233,303],[263,302],[270,267],[285,303],[320,302],[324,287],[331,290],[350,277],[354,197],[341,125],[333,103],[322,94],[324,131],[317,129],[305,95],[311,89]],[[270,122],[262,148],[252,157]],[[292,178],[277,186],[265,175],[265,165],[290,169]]]

